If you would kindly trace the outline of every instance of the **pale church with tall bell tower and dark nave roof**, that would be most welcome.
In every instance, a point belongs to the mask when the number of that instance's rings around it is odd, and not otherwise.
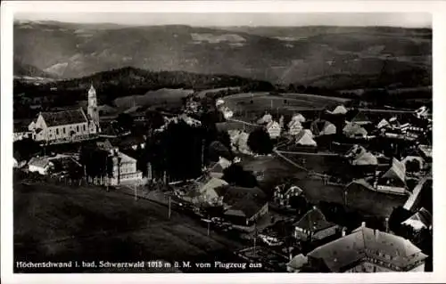
[[[82,108],[56,112],[40,112],[29,124],[32,138],[37,142],[63,143],[90,139],[101,132],[96,91],[88,90],[87,114]]]

